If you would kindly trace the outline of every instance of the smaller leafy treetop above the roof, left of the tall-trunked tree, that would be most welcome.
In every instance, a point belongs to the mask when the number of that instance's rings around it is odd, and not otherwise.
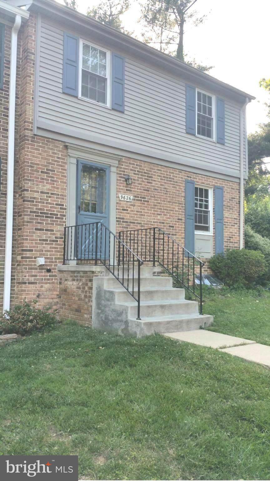
[[[88,8],[87,15],[104,25],[116,28],[126,33],[120,16],[130,7],[129,0],[104,0],[93,8]]]

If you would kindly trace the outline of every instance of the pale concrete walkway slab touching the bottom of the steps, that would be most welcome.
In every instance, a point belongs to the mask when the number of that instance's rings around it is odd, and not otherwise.
[[[239,346],[239,344],[244,343],[255,344],[255,341],[250,341],[249,339],[228,336],[227,334],[220,334],[219,332],[212,332],[204,329],[183,332],[166,332],[163,334],[163,336],[168,336],[172,339],[178,339],[179,341],[192,342],[193,344],[199,344],[200,346],[213,347],[215,349],[222,348],[222,351],[224,350],[225,352],[228,352],[225,349],[226,347],[230,348],[231,346]]]

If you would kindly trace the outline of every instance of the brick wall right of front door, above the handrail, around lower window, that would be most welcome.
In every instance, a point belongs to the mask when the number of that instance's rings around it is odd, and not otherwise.
[[[125,185],[124,177],[130,174],[131,186]],[[240,185],[214,177],[201,176],[125,158],[117,169],[117,195],[129,192],[132,202],[117,198],[117,232],[119,230],[158,226],[172,235],[184,246],[184,183],[186,178],[208,187],[224,187],[224,248],[239,248]],[[215,198],[213,198],[213,209]],[[215,234],[215,216],[213,232]],[[215,235],[213,235],[215,249]],[[215,250],[214,250],[215,252]],[[206,263],[207,265],[207,263]]]

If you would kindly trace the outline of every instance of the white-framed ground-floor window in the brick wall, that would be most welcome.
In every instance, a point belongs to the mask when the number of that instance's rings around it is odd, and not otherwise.
[[[195,231],[213,233],[213,189],[195,186]]]

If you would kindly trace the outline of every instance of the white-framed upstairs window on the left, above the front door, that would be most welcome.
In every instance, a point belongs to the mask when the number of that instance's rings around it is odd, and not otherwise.
[[[110,107],[110,51],[80,41],[79,97]]]

